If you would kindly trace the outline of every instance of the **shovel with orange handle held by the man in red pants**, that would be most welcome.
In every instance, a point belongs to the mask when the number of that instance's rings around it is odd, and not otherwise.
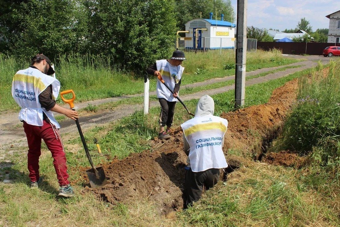
[[[71,99],[65,99],[63,95],[69,94],[69,93],[72,93],[73,97]],[[60,96],[61,96],[62,100],[64,102],[68,103],[70,105],[70,108],[72,110],[74,110],[73,109],[74,108],[73,101],[75,99],[75,94],[74,94],[73,90],[63,91],[63,92],[60,93]],[[80,124],[79,124],[79,120],[78,119],[75,119],[75,124],[77,124],[77,128],[78,128],[78,131],[79,131],[79,134],[80,134],[80,138],[82,139],[82,142],[83,142],[83,146],[84,146],[84,149],[85,149],[85,153],[86,153],[87,159],[88,159],[88,161],[90,162],[90,164],[92,166],[91,169],[88,169],[86,171],[87,177],[88,177],[88,179],[90,181],[90,185],[91,185],[92,188],[101,187],[101,186],[107,184],[107,180],[106,180],[106,177],[105,177],[104,169],[103,169],[102,166],[95,167],[95,165],[93,164],[91,156],[90,156],[90,153],[88,151],[88,148],[87,148],[87,145],[86,145],[86,142],[85,142],[85,138],[84,138],[82,129],[80,128]]]

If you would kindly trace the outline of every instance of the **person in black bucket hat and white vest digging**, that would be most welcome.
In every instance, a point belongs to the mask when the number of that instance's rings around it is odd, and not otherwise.
[[[158,138],[167,140],[170,138],[170,127],[173,121],[173,115],[176,104],[176,97],[180,90],[182,74],[184,67],[181,66],[185,59],[184,52],[174,51],[170,59],[158,60],[155,64],[147,68],[147,73],[158,78],[156,93],[160,103],[161,111],[159,116],[159,134]],[[164,81],[170,88],[173,88],[172,94],[161,81]],[[164,127],[167,126],[167,130]]]

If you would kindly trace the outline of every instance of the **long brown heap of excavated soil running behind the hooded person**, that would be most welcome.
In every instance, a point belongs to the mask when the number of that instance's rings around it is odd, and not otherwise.
[[[296,87],[297,80],[287,82],[273,92],[267,104],[223,113],[221,117],[229,122],[224,151],[236,148],[251,152],[262,143],[258,135],[263,139],[272,137],[296,99]],[[187,156],[182,150],[181,128],[171,135],[162,146],[162,141],[155,138],[152,151],[103,164],[108,184],[102,188],[86,187],[84,191],[91,191],[99,200],[112,204],[149,199],[159,205],[161,215],[182,209]],[[83,176],[86,178],[85,170]]]

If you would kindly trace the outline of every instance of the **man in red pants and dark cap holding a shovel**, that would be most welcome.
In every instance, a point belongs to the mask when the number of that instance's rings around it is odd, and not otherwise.
[[[19,119],[23,122],[28,142],[30,188],[37,189],[43,180],[39,175],[39,157],[41,139],[43,139],[52,153],[53,165],[60,185],[58,195],[71,197],[74,192],[68,181],[65,150],[58,130],[60,125],[52,111],[64,114],[73,120],[78,118],[78,112],[56,104],[60,82],[49,76],[53,73],[51,61],[47,56],[35,55],[29,68],[19,70],[14,75],[12,96],[21,107]]]

